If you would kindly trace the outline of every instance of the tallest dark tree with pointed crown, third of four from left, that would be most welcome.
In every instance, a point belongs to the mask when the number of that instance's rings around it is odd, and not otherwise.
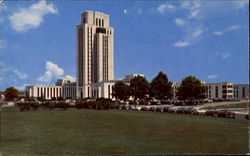
[[[159,72],[150,84],[150,96],[157,99],[171,98],[173,95],[172,82],[163,72]]]

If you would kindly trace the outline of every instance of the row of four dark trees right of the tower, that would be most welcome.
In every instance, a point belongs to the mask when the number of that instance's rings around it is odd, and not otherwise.
[[[205,91],[206,88],[199,79],[188,76],[182,80],[176,96],[180,100],[201,99],[205,98]],[[119,100],[127,100],[130,96],[134,99],[145,99],[146,96],[159,100],[171,99],[173,97],[172,82],[163,72],[159,72],[151,83],[145,77],[136,76],[130,81],[130,85],[117,81],[113,86],[113,96]]]

